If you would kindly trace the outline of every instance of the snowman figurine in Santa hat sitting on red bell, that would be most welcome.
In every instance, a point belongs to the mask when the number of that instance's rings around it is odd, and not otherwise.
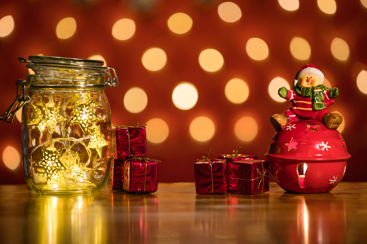
[[[280,97],[292,102],[292,107],[281,115],[273,115],[270,122],[281,131],[284,126],[298,119],[316,120],[328,129],[337,129],[343,118],[338,113],[330,113],[327,106],[335,102],[338,88],[330,89],[323,85],[324,74],[313,64],[302,66],[292,84],[293,91],[286,87],[278,90]]]

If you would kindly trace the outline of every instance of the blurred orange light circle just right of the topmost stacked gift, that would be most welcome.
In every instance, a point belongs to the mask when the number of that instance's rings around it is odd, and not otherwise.
[[[160,143],[167,139],[168,125],[164,120],[154,118],[146,123],[146,139],[153,143]]]

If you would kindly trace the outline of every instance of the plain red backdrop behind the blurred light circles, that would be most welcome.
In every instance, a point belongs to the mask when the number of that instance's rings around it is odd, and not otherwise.
[[[40,53],[75,58],[102,55],[108,66],[115,68],[120,80],[118,87],[105,90],[112,123],[132,125],[155,117],[166,121],[168,138],[163,143],[147,145],[148,156],[162,161],[159,181],[194,181],[193,164],[197,158],[207,155],[210,147],[211,158],[243,145],[242,153],[265,159],[275,133],[269,118],[291,105],[273,101],[268,85],[277,76],[291,83],[302,65],[312,63],[339,88],[339,97],[329,110],[338,110],[346,121],[342,135],[352,158],[343,181],[367,180],[367,95],[356,86],[359,72],[367,70],[367,8],[360,1],[337,1],[337,12],[327,15],[316,1],[300,1],[298,10],[287,12],[277,1],[233,0],[242,11],[242,18],[234,23],[219,18],[217,9],[222,1],[152,1],[156,4],[145,12],[132,7],[131,3],[137,2],[1,1],[0,18],[12,15],[15,22],[13,32],[0,38],[1,112],[14,101],[15,80],[28,73],[18,57]],[[193,19],[192,29],[186,34],[174,34],[167,27],[167,19],[177,12]],[[55,29],[66,17],[75,18],[76,33],[60,40]],[[135,34],[126,41],[116,40],[111,34],[113,24],[122,18],[132,19],[136,24]],[[292,57],[289,43],[294,36],[309,42],[312,53],[308,61]],[[269,56],[265,60],[254,61],[248,57],[246,43],[252,37],[261,38],[268,45]],[[350,56],[345,62],[335,60],[331,54],[330,44],[335,37],[349,45]],[[141,63],[142,53],[150,47],[159,47],[167,54],[167,63],[160,71],[150,72]],[[198,57],[207,48],[218,50],[224,57],[220,71],[208,73],[201,69]],[[225,85],[232,78],[246,80],[250,86],[250,96],[243,104],[232,104],[225,97]],[[172,102],[172,91],[181,81],[193,83],[199,92],[199,100],[192,109],[180,110]],[[148,105],[141,113],[130,113],[123,105],[124,94],[133,86],[141,87],[148,95]],[[189,134],[190,122],[197,116],[214,121],[216,132],[208,142],[196,142]],[[251,116],[258,123],[258,134],[249,143],[240,142],[233,132],[242,116]],[[1,154],[9,145],[21,152],[19,121],[14,119],[12,124],[1,122],[0,125]],[[25,183],[21,165],[10,170],[0,160],[0,184]]]

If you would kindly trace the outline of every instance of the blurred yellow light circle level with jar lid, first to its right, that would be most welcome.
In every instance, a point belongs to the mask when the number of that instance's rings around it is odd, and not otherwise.
[[[164,67],[167,56],[160,48],[150,48],[144,52],[141,62],[147,70],[157,71]]]

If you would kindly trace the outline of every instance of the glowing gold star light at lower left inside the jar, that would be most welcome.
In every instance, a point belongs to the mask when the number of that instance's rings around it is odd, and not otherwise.
[[[47,181],[62,177],[67,169],[60,161],[61,151],[62,149],[41,146],[41,158],[33,164],[37,167],[37,174],[46,177]]]

